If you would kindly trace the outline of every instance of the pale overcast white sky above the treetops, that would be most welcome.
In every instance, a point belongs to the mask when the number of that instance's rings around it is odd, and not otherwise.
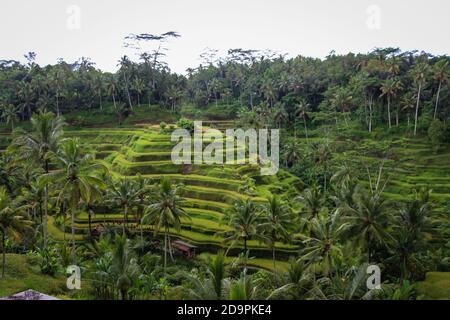
[[[71,5],[80,8],[80,28]],[[392,46],[441,55],[450,52],[449,16],[449,0],[2,0],[0,59],[85,56],[113,71],[120,56],[132,56],[122,46],[127,34],[169,30],[182,36],[167,44],[176,72],[197,66],[206,47],[322,58]]]

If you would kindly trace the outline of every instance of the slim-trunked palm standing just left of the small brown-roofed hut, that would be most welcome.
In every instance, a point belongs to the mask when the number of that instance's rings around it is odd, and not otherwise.
[[[176,230],[180,230],[181,218],[189,218],[188,214],[181,207],[183,198],[178,193],[178,186],[174,187],[170,180],[164,177],[160,182],[154,202],[147,207],[146,214],[142,218],[142,223],[155,225],[155,234],[161,228],[164,229],[164,272],[167,267],[167,251],[170,250],[172,255],[172,246],[169,243],[169,229],[174,227]]]

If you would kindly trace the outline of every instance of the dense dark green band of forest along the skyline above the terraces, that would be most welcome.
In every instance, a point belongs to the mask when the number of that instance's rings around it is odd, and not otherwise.
[[[202,108],[234,105],[241,117],[256,124],[307,122],[348,123],[358,119],[369,131],[377,125],[414,126],[420,118],[450,117],[448,56],[425,52],[376,49],[368,54],[325,59],[287,59],[256,50],[229,50],[216,59],[188,69],[186,76],[170,71],[160,53],[142,54],[134,62],[124,56],[116,73],[102,72],[89,59],[60,60],[39,66],[29,53],[27,63],[0,61],[0,103],[4,121],[13,126],[39,108],[63,114],[113,105],[132,112],[135,105],[159,104],[177,111],[182,104]]]

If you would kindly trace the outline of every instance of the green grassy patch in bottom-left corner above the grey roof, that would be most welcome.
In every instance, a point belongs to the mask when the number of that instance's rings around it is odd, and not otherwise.
[[[53,296],[67,294],[66,277],[43,275],[39,258],[18,254],[6,255],[6,274],[0,279],[0,297],[33,289]]]

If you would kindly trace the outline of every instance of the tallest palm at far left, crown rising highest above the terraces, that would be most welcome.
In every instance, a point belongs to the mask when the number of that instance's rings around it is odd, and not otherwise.
[[[23,159],[31,159],[37,162],[45,174],[50,172],[50,160],[58,150],[58,145],[63,134],[64,122],[60,117],[55,117],[51,112],[40,112],[31,118],[32,129],[23,131],[14,141],[22,150]],[[44,222],[43,238],[44,247],[47,245],[47,218],[48,218],[48,183],[44,190]]]

